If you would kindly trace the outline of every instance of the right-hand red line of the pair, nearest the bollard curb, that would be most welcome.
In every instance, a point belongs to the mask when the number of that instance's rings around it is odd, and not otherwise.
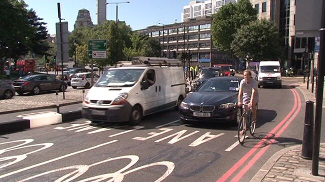
[[[295,92],[296,95],[298,95],[298,93],[295,90],[291,90],[293,92]],[[300,103],[300,97],[298,97],[298,109],[295,111],[295,113],[292,115],[292,117],[283,125],[283,127],[275,134],[274,138],[279,137],[284,131],[285,129],[290,125],[290,123],[293,121],[293,119],[296,117],[296,115],[298,114],[298,112],[301,109],[301,103]],[[253,164],[256,163],[256,161],[266,152],[266,150],[270,147],[271,144],[273,144],[275,142],[275,139],[271,139],[268,142],[268,145],[264,148],[262,148],[248,163],[247,165],[245,165],[240,171],[239,173],[233,177],[233,179],[231,179],[230,182],[239,182],[239,180],[242,178],[243,175],[245,175],[245,173],[253,166]]]

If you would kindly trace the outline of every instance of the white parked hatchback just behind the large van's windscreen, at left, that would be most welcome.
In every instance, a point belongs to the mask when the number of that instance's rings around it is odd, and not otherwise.
[[[99,76],[93,74],[93,83],[96,83]],[[76,87],[90,88],[91,85],[91,73],[76,73],[74,78],[71,78],[71,86],[76,89]]]

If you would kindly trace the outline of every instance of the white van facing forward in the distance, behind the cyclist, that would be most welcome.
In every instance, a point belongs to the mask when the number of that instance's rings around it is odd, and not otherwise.
[[[258,66],[258,88],[262,86],[282,87],[279,61],[260,61]]]

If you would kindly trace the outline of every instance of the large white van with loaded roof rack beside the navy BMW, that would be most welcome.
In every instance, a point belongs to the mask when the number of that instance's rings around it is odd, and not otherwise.
[[[109,68],[100,76],[84,98],[82,116],[91,122],[129,121],[135,125],[142,116],[178,109],[184,97],[180,61],[137,57],[132,65]]]

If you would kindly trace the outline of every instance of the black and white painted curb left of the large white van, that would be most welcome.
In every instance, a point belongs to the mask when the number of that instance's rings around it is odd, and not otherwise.
[[[56,106],[55,106],[56,107]],[[65,112],[65,113],[52,113],[53,116],[48,116],[50,118],[46,118],[46,122],[43,122],[43,118],[31,118],[27,117],[26,119],[13,120],[4,123],[0,123],[0,134],[14,133],[18,131],[23,131],[30,128],[36,128],[40,126],[46,126],[51,124],[69,122],[75,119],[82,118],[81,110]],[[55,115],[55,116],[54,116]],[[59,115],[59,116],[58,116]]]

